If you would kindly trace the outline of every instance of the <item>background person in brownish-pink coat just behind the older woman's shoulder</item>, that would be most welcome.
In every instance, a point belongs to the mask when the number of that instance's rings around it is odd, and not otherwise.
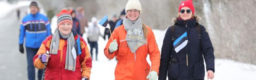
[[[84,14],[83,7],[77,7],[76,11],[76,18],[79,20],[80,23],[80,35],[83,36],[85,32],[84,27],[88,27],[88,20],[86,19],[86,16]]]

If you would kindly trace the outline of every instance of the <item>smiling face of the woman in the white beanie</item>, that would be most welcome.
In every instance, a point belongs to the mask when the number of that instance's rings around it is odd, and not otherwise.
[[[137,20],[139,17],[140,12],[139,10],[127,10],[127,18],[131,21]]]

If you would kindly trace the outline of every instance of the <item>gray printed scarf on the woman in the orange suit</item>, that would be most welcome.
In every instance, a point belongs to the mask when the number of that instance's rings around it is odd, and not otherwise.
[[[134,23],[134,24],[133,24]],[[140,17],[134,22],[130,21],[127,18],[123,20],[124,28],[127,32],[126,41],[127,44],[134,53],[140,46],[147,43],[146,38],[144,38],[143,30],[142,30],[142,21]]]

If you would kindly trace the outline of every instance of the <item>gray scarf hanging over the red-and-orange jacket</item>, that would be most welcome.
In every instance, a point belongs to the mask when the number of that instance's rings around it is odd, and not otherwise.
[[[76,59],[72,56],[72,48],[75,45],[75,39],[72,31],[68,35],[63,35],[59,32],[59,29],[56,28],[54,34],[52,34],[52,41],[50,44],[50,54],[58,54],[59,43],[60,43],[60,35],[63,38],[67,38],[67,51],[66,51],[66,62],[65,62],[65,69],[66,70],[76,70]]]

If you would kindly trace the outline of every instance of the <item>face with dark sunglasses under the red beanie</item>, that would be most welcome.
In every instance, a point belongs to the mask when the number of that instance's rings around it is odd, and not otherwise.
[[[180,18],[182,18],[182,20],[188,20],[188,19],[192,18],[192,11],[191,11],[190,8],[183,7],[180,10],[185,10],[184,13],[182,13],[181,11],[179,13],[180,14]],[[190,10],[190,13],[187,12],[188,10]]]

